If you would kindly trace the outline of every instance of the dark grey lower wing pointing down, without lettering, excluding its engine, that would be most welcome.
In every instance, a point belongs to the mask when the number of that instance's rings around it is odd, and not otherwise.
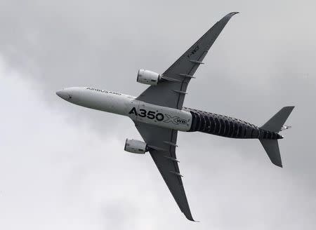
[[[181,212],[184,213],[187,219],[195,221],[192,218],[190,207],[187,203],[187,196],[185,196],[181,179],[182,175],[180,175],[178,160],[176,159],[178,131],[152,126],[147,123],[138,123],[137,121],[135,122],[135,126],[148,147],[152,149],[150,150],[150,155]]]

